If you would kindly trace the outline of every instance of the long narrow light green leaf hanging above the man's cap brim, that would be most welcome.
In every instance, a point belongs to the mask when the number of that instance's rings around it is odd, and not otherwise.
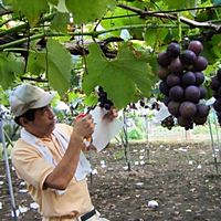
[[[71,86],[73,66],[71,54],[61,43],[53,39],[48,40],[46,48],[49,82],[63,96]]]

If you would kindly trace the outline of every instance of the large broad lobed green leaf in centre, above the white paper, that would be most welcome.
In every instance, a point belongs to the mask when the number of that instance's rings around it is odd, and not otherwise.
[[[134,101],[137,92],[150,95],[154,84],[151,67],[141,53],[127,43],[114,60],[107,60],[96,44],[91,44],[86,64],[88,74],[84,76],[83,90],[87,95],[101,85],[118,108]]]

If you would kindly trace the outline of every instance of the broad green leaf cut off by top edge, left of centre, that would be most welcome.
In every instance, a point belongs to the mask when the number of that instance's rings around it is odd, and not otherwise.
[[[82,24],[102,19],[115,0],[66,0],[66,8],[73,13],[74,23]]]

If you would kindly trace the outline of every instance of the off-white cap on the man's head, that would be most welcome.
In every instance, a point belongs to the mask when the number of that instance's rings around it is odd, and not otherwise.
[[[55,94],[31,84],[19,85],[9,98],[11,112],[14,116],[21,116],[29,109],[44,107],[51,103]]]

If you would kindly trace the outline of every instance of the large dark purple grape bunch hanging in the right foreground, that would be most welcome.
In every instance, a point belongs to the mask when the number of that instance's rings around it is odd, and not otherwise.
[[[192,129],[193,124],[207,122],[209,106],[200,99],[207,95],[203,86],[208,61],[200,53],[203,45],[200,41],[190,41],[181,51],[177,42],[171,42],[165,52],[158,54],[159,91],[169,113],[177,118],[178,125]]]

